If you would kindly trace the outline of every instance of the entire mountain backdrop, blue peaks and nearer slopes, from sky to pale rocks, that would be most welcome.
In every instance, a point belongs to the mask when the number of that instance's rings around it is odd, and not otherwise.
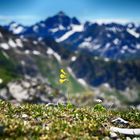
[[[86,84],[131,89],[140,84],[139,57],[140,26],[133,23],[80,23],[59,12],[29,27],[15,22],[0,27],[1,87],[34,77],[57,88],[64,67],[76,92]]]

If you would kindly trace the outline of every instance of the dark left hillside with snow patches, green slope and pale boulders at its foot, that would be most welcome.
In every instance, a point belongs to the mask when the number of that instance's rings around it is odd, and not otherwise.
[[[53,41],[50,44],[57,45]],[[60,88],[58,82],[61,68],[69,74],[72,83],[69,91],[84,91],[67,70],[67,64],[63,66],[62,58],[46,43],[14,35],[0,26],[0,98],[34,103],[66,102],[67,85]]]

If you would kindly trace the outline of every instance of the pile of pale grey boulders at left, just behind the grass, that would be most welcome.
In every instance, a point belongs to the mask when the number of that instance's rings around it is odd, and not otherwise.
[[[59,90],[37,78],[24,78],[9,82],[0,90],[0,98],[14,103],[65,103],[67,98]]]

